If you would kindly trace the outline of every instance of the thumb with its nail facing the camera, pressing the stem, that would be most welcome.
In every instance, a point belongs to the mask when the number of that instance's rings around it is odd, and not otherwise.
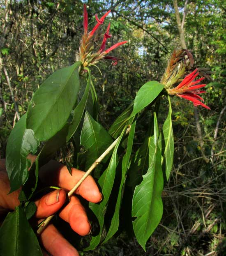
[[[65,203],[66,192],[63,189],[56,189],[39,200],[35,201],[37,211],[35,217],[38,219],[48,217],[57,212]]]

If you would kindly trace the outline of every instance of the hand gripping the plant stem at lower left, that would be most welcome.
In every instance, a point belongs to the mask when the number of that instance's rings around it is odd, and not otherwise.
[[[67,167],[51,160],[43,166],[39,172],[39,178],[44,186],[57,186],[62,189],[52,191],[35,201],[37,211],[35,217],[42,219],[54,214],[65,202],[66,191],[69,191],[80,180],[84,172],[75,168],[71,168],[72,176],[69,174]],[[18,195],[20,190],[8,194],[10,190],[9,179],[5,168],[5,160],[0,159],[0,207],[7,210],[14,210],[20,204]],[[65,191],[66,190],[66,191]],[[98,203],[102,199],[102,195],[95,183],[95,180],[88,176],[83,183],[75,191],[92,203]],[[69,222],[71,228],[79,235],[87,235],[91,231],[91,225],[85,213],[85,209],[81,205],[76,196],[71,196],[69,204],[61,210],[59,216]],[[49,224],[39,236],[44,248],[53,256],[78,256],[78,251],[69,243],[58,230]],[[43,250],[43,255],[48,254]]]

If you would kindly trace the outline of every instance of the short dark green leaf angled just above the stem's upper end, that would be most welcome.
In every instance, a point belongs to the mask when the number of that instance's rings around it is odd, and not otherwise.
[[[121,115],[113,122],[113,125],[110,127],[108,133],[113,136],[113,138],[117,138],[118,134],[120,134],[125,127],[126,122],[128,121],[129,115],[131,114],[133,109],[133,104],[130,104],[125,111],[122,112]]]

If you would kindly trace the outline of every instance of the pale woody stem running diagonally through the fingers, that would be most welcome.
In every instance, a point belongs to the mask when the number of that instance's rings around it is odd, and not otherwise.
[[[125,135],[129,134],[130,131],[130,126],[127,128]],[[85,172],[85,174],[83,175],[83,177],[76,183],[76,185],[68,192],[68,197],[70,198],[73,194],[74,191],[76,191],[76,189],[82,184],[82,182],[90,175],[90,173],[98,166],[98,164],[101,163],[101,161],[104,159],[104,157],[106,157],[106,155],[108,155],[111,150],[115,147],[115,145],[117,144],[118,140],[119,140],[120,136],[104,151],[104,153],[98,157],[95,162],[90,166],[90,168]],[[65,207],[65,205],[63,205]],[[42,221],[41,224],[39,224],[39,228],[37,230],[37,234],[41,234],[42,231],[44,231],[44,229],[46,228],[46,226],[48,225],[48,223],[51,221],[51,219],[53,219],[54,214],[47,217],[44,221]]]

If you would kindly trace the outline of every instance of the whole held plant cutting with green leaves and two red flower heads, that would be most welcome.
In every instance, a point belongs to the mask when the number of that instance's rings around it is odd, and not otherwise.
[[[89,245],[83,250],[95,249],[118,231],[126,189],[133,194],[126,199],[131,205],[131,216],[128,218],[132,217],[134,234],[144,250],[147,240],[161,221],[161,193],[173,164],[171,96],[176,95],[192,101],[194,106],[201,105],[209,109],[200,97],[205,91],[199,90],[205,87],[200,82],[208,75],[194,67],[194,59],[189,51],[175,50],[160,83],[149,81],[141,86],[131,105],[107,131],[97,121],[97,93],[90,69],[96,68],[102,59],[110,59],[116,65],[120,59],[108,54],[127,42],[119,42],[106,49],[107,39],[111,37],[110,23],[104,34],[101,28],[109,13],[106,12],[101,18],[96,15],[97,23],[89,32],[88,13],[84,5],[80,60],[55,71],[42,83],[33,95],[27,113],[16,123],[9,136],[6,166],[11,192],[20,187],[22,189],[19,195],[21,204],[7,215],[0,229],[0,251],[3,253],[14,250],[12,255],[19,255],[15,250],[20,250],[21,255],[27,255],[27,248],[23,248],[23,245],[29,243],[29,255],[42,255],[27,219],[36,210],[33,198],[38,192],[39,168],[67,145],[74,145],[74,162],[65,160],[69,171],[72,164],[77,168],[83,166],[86,171],[69,192],[69,197],[91,172],[98,179],[103,194],[99,204],[89,203],[96,220],[91,223],[94,232],[88,237]],[[199,72],[202,77],[196,80]],[[168,111],[159,131],[158,113],[163,100],[168,100]],[[135,131],[139,132],[136,130],[139,117],[150,111],[152,118],[149,129],[141,146],[135,150],[134,134]],[[80,145],[76,145],[78,142]],[[79,151],[81,146],[83,152]],[[27,158],[29,154],[37,155],[34,163]],[[37,233],[41,233],[52,218],[44,220],[37,227]],[[26,236],[23,235],[24,229]],[[11,244],[19,245],[16,249],[11,248],[8,237],[12,239]]]

